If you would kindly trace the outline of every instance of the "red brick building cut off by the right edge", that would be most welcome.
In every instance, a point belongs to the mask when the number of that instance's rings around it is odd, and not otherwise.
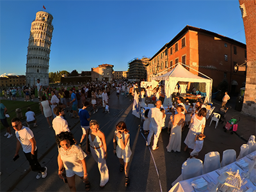
[[[256,2],[239,0],[247,45],[247,74],[243,113],[256,117]]]

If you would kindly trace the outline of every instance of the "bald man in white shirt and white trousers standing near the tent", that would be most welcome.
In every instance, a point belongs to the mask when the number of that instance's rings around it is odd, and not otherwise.
[[[161,100],[157,100],[156,108],[151,108],[148,112],[148,118],[150,119],[150,131],[147,138],[147,146],[151,143],[151,138],[154,134],[154,143],[152,146],[152,150],[157,150],[157,142],[159,135],[162,131],[162,124],[163,124],[163,113],[160,111],[160,107],[162,105]]]

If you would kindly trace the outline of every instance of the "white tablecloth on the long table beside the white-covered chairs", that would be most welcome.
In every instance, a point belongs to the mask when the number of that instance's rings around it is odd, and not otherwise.
[[[256,156],[256,151],[255,152],[252,152],[251,154],[249,154],[248,156]],[[246,157],[243,157],[242,159],[244,159],[244,161],[246,161],[247,163],[252,164],[253,161],[251,159],[248,158],[248,156]],[[240,161],[240,159],[238,160]],[[222,172],[225,172],[225,171],[228,171],[230,168],[232,168],[232,171],[233,172],[236,172],[237,170],[239,170],[239,173],[241,175],[241,173],[243,172],[247,172],[248,171],[248,168],[247,169],[242,169],[240,168],[238,165],[237,165],[237,161],[234,162],[234,163],[231,163],[231,164],[228,164],[227,166],[224,166],[223,168],[220,168],[216,171],[213,171],[213,172],[209,172],[209,173],[206,173],[204,175],[200,175],[198,177],[194,177],[194,178],[191,178],[191,179],[187,179],[187,180],[182,180],[180,182],[177,182],[170,190],[169,192],[195,192],[194,188],[191,186],[191,182],[193,180],[196,180],[196,179],[200,179],[201,177],[203,177],[208,184],[210,184],[212,181],[214,182],[214,184],[217,184],[218,182],[218,177],[220,176],[218,173],[222,173]],[[218,173],[217,173],[218,172]],[[251,172],[251,175],[256,175],[256,170],[253,169],[252,172]],[[252,176],[251,176],[252,177]],[[250,178],[251,178],[250,177]],[[182,177],[180,177],[181,179]],[[241,176],[241,179],[242,179],[242,176]],[[250,181],[250,179],[246,179],[247,180],[247,183],[244,184],[244,186],[242,186],[241,188],[246,191],[246,189],[248,188],[253,188],[254,190],[256,189],[256,186],[253,185],[253,183]],[[208,191],[208,190],[205,190],[205,191]]]

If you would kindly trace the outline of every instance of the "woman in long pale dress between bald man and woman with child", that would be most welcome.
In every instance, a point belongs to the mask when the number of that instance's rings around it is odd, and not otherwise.
[[[174,115],[174,118],[170,118],[172,121],[172,131],[170,134],[169,143],[167,145],[167,151],[168,152],[180,152],[181,148],[181,129],[185,123],[185,115],[182,114],[182,111],[184,111],[183,106],[177,106],[177,112],[178,114]]]

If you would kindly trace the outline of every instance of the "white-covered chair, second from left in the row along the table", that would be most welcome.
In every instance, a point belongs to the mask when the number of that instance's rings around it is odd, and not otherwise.
[[[220,154],[217,151],[212,151],[204,156],[204,174],[218,170],[220,166]]]

